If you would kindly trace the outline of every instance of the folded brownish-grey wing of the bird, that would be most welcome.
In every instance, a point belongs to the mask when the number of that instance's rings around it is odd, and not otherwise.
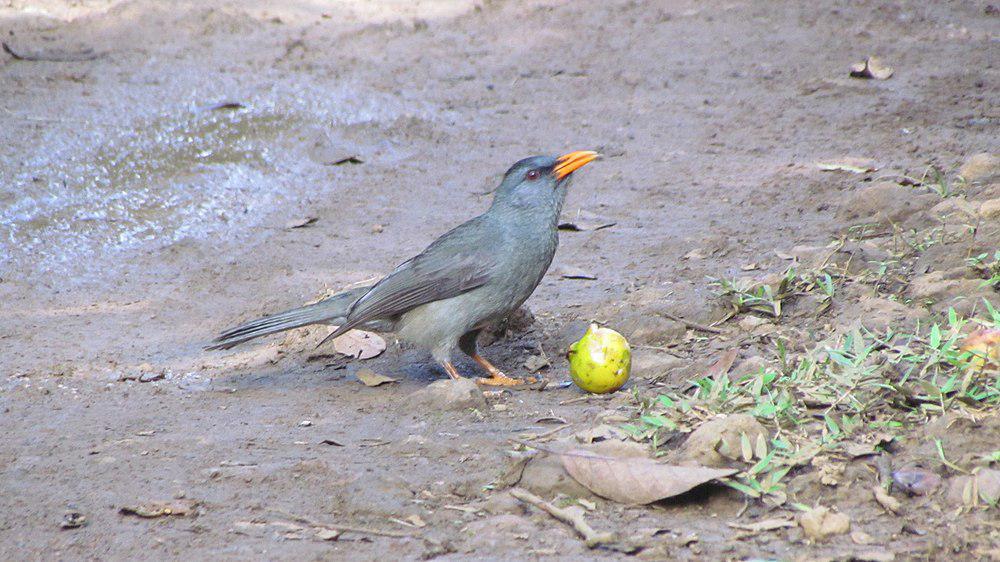
[[[398,316],[422,304],[456,297],[485,284],[497,267],[501,229],[483,228],[482,217],[459,225],[403,262],[357,300],[347,322],[326,339],[378,318]],[[324,341],[326,341],[324,339]]]

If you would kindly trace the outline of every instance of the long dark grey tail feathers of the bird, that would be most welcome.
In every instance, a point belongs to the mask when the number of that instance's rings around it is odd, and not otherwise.
[[[292,310],[286,310],[272,316],[265,316],[264,318],[240,324],[219,334],[217,338],[212,340],[210,345],[205,346],[205,349],[229,349],[254,338],[284,332],[293,328],[301,328],[310,324],[343,323],[344,318],[351,309],[351,305],[364,296],[370,288],[358,287],[338,293],[317,303],[293,308]]]

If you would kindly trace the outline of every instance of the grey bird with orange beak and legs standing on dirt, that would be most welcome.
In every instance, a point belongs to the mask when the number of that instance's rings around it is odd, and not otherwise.
[[[599,156],[578,150],[519,160],[504,174],[484,213],[443,234],[374,285],[230,328],[206,349],[229,349],[268,334],[327,324],[336,328],[319,345],[354,328],[394,332],[399,340],[429,350],[452,379],[463,378],[452,362],[461,350],[489,375],[476,382],[523,384],[480,355],[477,339],[517,310],[541,282],[559,244],[559,215],[572,175]]]

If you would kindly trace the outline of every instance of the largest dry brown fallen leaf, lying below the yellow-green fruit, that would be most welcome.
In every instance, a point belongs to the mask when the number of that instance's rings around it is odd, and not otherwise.
[[[672,466],[642,457],[602,456],[580,449],[562,453],[560,458],[566,472],[588,490],[626,504],[647,504],[671,498],[737,472],[701,466]]]

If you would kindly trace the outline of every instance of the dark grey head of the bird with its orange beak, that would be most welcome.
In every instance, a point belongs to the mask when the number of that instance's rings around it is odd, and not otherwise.
[[[592,150],[577,150],[558,157],[525,158],[504,174],[493,204],[558,210],[566,198],[566,187],[573,172],[598,156]]]

